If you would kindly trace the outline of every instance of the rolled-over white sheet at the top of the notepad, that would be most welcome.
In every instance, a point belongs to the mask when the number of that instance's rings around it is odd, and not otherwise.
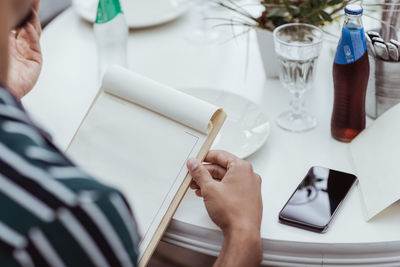
[[[132,103],[202,133],[209,132],[211,117],[218,109],[210,103],[118,66],[107,70],[103,88],[110,94],[129,99]]]

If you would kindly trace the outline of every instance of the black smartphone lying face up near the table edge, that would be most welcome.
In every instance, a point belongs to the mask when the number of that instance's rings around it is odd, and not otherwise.
[[[312,167],[279,213],[281,223],[318,233],[327,231],[357,177]]]

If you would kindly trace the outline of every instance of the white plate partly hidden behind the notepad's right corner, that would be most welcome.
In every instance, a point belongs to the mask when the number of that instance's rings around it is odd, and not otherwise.
[[[212,149],[226,150],[247,158],[259,150],[270,133],[268,117],[250,100],[214,89],[184,89],[183,92],[222,107],[228,118]]]

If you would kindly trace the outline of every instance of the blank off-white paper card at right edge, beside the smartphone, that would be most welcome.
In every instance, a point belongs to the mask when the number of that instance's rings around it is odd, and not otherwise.
[[[400,105],[350,144],[367,220],[400,199]]]

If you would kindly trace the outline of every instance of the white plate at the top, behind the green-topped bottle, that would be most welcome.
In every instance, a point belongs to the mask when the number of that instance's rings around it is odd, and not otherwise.
[[[155,26],[174,20],[189,8],[188,0],[120,0],[130,28]],[[94,22],[98,0],[73,0],[76,12]]]

